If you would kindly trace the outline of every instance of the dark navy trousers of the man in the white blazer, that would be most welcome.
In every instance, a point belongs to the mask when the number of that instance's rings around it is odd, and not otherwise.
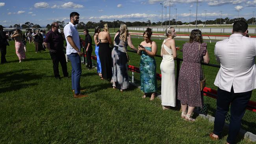
[[[233,87],[230,92],[218,88],[217,111],[215,113],[213,133],[221,137],[225,116],[230,106],[230,123],[228,128],[227,142],[234,144],[236,136],[241,127],[241,119],[245,114],[245,108],[252,95],[252,90],[248,92],[234,93]]]

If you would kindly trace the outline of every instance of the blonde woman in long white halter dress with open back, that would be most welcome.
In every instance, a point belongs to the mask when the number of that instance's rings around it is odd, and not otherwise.
[[[175,64],[174,59],[177,57],[174,37],[176,31],[173,27],[165,30],[164,34],[167,39],[161,46],[161,56],[163,60],[160,65],[161,69],[161,101],[163,109],[176,107],[176,83],[175,83]]]

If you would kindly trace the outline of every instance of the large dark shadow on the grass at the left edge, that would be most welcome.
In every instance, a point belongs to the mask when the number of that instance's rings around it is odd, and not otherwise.
[[[0,93],[19,90],[26,87],[38,85],[38,83],[35,83],[35,82],[28,83],[28,81],[31,81],[34,79],[41,79],[43,77],[42,75],[34,74],[32,72],[23,73],[24,71],[28,71],[28,69],[21,69],[21,70],[1,73],[0,83],[2,83],[2,85],[0,88]]]

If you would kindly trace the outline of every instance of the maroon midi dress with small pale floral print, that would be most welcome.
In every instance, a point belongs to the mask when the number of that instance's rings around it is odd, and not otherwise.
[[[203,79],[201,62],[206,54],[207,44],[186,42],[183,45],[183,63],[180,67],[178,81],[178,100],[182,105],[202,107],[203,92],[200,90],[200,81]]]

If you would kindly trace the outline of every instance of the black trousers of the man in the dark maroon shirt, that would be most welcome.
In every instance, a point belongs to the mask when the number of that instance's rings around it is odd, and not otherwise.
[[[54,76],[56,78],[59,78],[59,63],[61,64],[63,76],[67,77],[69,76],[69,73],[67,71],[67,62],[66,62],[66,57],[63,52],[63,50],[56,51],[55,53],[50,52],[51,58],[52,58],[52,63],[53,63],[53,72]]]

